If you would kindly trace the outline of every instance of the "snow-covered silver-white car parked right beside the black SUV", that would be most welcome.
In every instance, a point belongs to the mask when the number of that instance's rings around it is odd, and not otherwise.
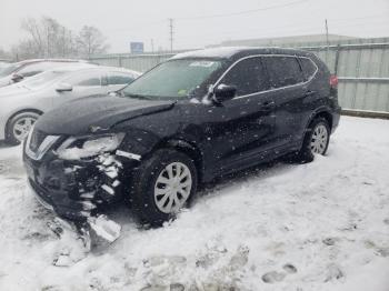
[[[0,88],[0,140],[19,144],[40,114],[77,98],[117,91],[139,76],[120,68],[78,64]]]

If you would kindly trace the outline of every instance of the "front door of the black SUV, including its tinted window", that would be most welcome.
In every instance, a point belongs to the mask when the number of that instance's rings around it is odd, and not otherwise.
[[[275,102],[260,57],[236,63],[217,83],[237,87],[237,97],[222,104],[205,107],[202,124],[209,138],[206,154],[213,160],[215,171],[226,172],[259,162],[277,141]]]

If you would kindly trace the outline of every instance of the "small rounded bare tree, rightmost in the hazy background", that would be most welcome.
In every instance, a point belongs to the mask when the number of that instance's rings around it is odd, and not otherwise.
[[[94,27],[84,26],[77,39],[78,49],[82,57],[90,58],[92,54],[104,53],[108,50],[106,37]]]

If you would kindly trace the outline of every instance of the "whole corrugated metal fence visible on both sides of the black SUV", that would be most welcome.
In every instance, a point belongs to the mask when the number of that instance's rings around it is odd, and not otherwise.
[[[389,38],[357,39],[329,44],[329,48],[323,42],[285,43],[282,47],[310,50],[327,63],[332,73],[337,72],[339,102],[342,108],[389,112]],[[172,56],[174,53],[120,54],[92,58],[91,61],[144,72]]]

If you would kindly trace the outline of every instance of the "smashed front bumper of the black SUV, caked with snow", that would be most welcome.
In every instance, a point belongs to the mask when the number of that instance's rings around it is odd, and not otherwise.
[[[29,188],[43,207],[71,220],[87,220],[104,204],[119,201],[124,169],[137,162],[114,153],[71,161],[50,155],[42,161],[24,155]]]

